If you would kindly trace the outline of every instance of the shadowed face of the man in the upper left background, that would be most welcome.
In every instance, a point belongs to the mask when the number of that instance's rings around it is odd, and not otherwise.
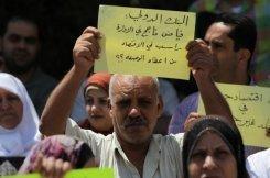
[[[36,25],[26,21],[10,22],[2,38],[2,52],[10,73],[23,74],[31,69],[40,49]]]

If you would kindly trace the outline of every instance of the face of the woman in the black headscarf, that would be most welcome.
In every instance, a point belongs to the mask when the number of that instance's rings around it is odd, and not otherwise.
[[[190,178],[237,178],[237,163],[219,135],[206,131],[192,153],[188,174]]]

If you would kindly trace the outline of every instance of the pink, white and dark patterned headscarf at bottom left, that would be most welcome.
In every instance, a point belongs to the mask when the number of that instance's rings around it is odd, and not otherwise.
[[[42,154],[44,157],[54,157],[69,162],[73,168],[83,168],[87,160],[94,158],[90,147],[83,141],[65,135],[54,135],[44,138],[33,147],[24,160],[20,173],[32,173],[34,170],[33,163],[39,154]]]

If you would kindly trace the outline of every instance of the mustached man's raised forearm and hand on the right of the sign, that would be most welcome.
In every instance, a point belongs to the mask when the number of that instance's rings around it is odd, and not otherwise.
[[[187,44],[186,49],[188,51],[186,56],[188,66],[196,80],[206,114],[225,116],[235,125],[229,105],[212,79],[215,56],[210,53],[207,44],[202,40],[192,41]]]

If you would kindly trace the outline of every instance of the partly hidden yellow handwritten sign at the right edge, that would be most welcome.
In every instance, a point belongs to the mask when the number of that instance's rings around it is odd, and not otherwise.
[[[244,144],[270,147],[267,129],[270,127],[270,88],[217,84],[227,100]],[[202,99],[198,113],[205,114]]]

